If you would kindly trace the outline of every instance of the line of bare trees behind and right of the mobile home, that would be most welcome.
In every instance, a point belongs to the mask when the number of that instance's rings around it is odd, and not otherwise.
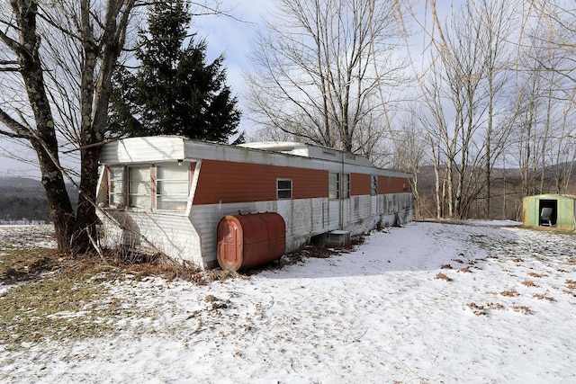
[[[519,219],[501,194],[574,191],[573,2],[275,3],[247,77],[262,137],[414,174],[420,217]]]

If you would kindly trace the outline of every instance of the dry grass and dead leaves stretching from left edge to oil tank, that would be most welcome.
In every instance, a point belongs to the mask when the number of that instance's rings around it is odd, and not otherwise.
[[[114,298],[108,283],[152,276],[198,285],[243,277],[236,272],[201,271],[163,257],[126,263],[114,254],[72,258],[46,249],[4,252],[0,280],[17,285],[0,294],[0,344],[16,349],[42,340],[110,335],[121,319],[138,316],[138,309]]]

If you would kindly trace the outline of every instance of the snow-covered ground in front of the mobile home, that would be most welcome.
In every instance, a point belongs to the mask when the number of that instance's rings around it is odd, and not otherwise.
[[[0,345],[0,381],[576,382],[576,237],[493,224],[414,222],[208,286],[116,281],[140,316],[102,339]]]

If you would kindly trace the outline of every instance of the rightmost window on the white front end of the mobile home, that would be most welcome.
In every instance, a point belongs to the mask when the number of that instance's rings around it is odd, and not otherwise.
[[[158,210],[186,209],[188,193],[190,192],[188,166],[157,165],[156,205]]]

